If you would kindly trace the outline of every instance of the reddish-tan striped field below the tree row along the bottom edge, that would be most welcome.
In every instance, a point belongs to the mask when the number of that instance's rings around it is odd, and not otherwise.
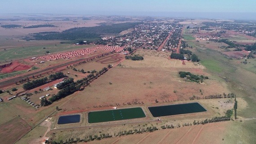
[[[161,130],[153,133],[128,135],[86,144],[223,144],[226,127],[229,122],[207,125],[181,127],[172,130]],[[211,136],[209,136],[211,135]],[[80,143],[84,144],[84,143]]]

